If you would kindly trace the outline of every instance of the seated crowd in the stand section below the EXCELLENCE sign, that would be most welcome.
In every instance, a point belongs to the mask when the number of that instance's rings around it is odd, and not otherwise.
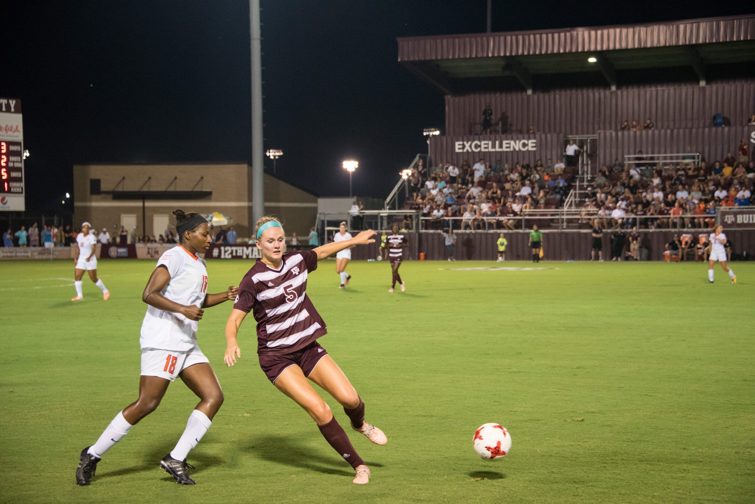
[[[574,174],[575,167],[550,159],[532,166],[480,159],[430,170],[420,160],[409,176],[408,207],[432,219],[425,229],[516,229],[522,211],[559,207]]]

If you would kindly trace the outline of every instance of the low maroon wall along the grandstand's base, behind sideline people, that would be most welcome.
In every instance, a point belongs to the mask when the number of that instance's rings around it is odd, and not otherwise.
[[[699,233],[708,233],[707,230],[695,230],[695,237]],[[664,245],[671,241],[674,234],[679,232],[660,231],[643,232],[641,243],[649,248],[650,260],[663,260]],[[755,231],[727,229],[726,236],[732,241],[733,251],[741,254],[747,250],[747,254],[755,254]],[[427,260],[446,260],[445,244],[440,233],[408,233],[411,250],[411,259],[418,258],[418,252],[424,252]],[[509,245],[506,250],[507,260],[531,260],[532,253],[528,247],[529,236],[527,233],[507,233]],[[455,257],[457,260],[489,260],[495,261],[497,248],[495,241],[497,233],[459,233],[457,235]],[[592,237],[589,232],[549,232],[543,236],[543,252],[546,260],[590,260]],[[626,247],[629,247],[627,238]],[[355,247],[352,251],[355,260],[374,259],[377,257],[377,244]],[[609,232],[603,234],[604,258],[611,259],[611,239]],[[701,269],[701,275],[705,273]],[[390,278],[390,267],[386,264],[387,277]],[[719,273],[720,274],[720,273]]]

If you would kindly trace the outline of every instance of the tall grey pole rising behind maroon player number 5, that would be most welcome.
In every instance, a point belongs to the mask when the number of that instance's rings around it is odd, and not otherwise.
[[[252,226],[254,226],[254,223],[265,214],[260,0],[249,0],[249,35],[251,41],[251,218]]]

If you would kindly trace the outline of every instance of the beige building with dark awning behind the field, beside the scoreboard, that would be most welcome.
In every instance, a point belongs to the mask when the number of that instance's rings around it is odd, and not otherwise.
[[[233,218],[239,238],[250,235],[251,167],[246,163],[75,164],[76,223],[88,221],[111,235],[120,226],[135,235],[175,230],[177,208]],[[282,220],[288,235],[307,236],[317,218],[317,197],[265,174],[265,213]]]

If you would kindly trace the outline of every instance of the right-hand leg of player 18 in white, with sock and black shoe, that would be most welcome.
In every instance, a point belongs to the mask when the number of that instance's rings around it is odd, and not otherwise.
[[[220,383],[217,383],[212,367],[206,362],[186,367],[179,376],[199,397],[199,404],[189,416],[186,429],[174,449],[160,461],[160,467],[173,476],[176,483],[196,484],[189,476],[189,469],[193,467],[186,463],[186,456],[210,429],[212,418],[223,404],[223,390],[220,389]]]

